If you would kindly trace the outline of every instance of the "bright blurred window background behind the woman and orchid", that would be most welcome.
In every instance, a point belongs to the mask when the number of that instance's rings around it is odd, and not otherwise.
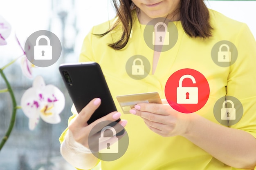
[[[235,20],[245,22],[256,37],[255,0],[209,0],[211,9]],[[67,127],[72,102],[61,80],[58,66],[77,62],[83,38],[93,25],[112,19],[115,11],[110,0],[0,0],[0,15],[12,26],[7,45],[0,46],[0,67],[22,54],[15,34],[24,47],[28,36],[38,30],[52,31],[61,40],[62,54],[50,67],[33,69],[33,79],[43,76],[46,84],[53,84],[65,95],[66,105],[61,123],[51,125],[40,120],[35,130],[28,128],[28,118],[18,110],[10,138],[0,151],[0,170],[74,170],[59,151],[58,138]],[[17,103],[33,79],[22,75],[20,60],[4,69],[14,89]],[[0,77],[0,89],[6,88]],[[0,140],[8,128],[11,116],[9,93],[0,93]]]

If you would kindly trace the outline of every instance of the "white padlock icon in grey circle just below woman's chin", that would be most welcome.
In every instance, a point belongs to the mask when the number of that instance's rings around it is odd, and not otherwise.
[[[160,30],[164,27],[164,31]],[[164,22],[157,22],[155,25],[155,31],[153,32],[153,45],[169,45],[170,34],[167,29],[167,25]]]

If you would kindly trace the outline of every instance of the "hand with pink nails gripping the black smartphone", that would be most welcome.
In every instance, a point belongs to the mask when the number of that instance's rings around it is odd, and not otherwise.
[[[68,126],[68,129],[72,133],[74,140],[82,144],[86,148],[89,148],[89,145],[88,145],[89,133],[95,125],[103,121],[116,121],[121,116],[121,113],[119,112],[111,112],[106,116],[103,116],[100,119],[97,119],[96,121],[88,125],[87,121],[90,119],[90,117],[92,116],[94,111],[99,107],[100,104],[101,104],[100,98],[92,99],[92,101],[90,101],[88,105],[86,105],[83,108],[83,110],[81,110],[81,112],[74,119],[72,119],[72,121]],[[119,121],[119,124],[121,124],[123,127],[125,127],[126,123],[127,123],[126,120]]]

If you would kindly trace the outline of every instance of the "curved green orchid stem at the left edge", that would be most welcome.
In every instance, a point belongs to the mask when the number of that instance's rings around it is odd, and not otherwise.
[[[5,142],[7,141],[7,139],[9,138],[10,134],[11,134],[11,131],[12,131],[14,123],[15,123],[16,111],[17,111],[17,103],[16,103],[16,99],[15,99],[13,90],[11,88],[11,85],[10,85],[9,81],[7,80],[7,78],[6,78],[6,76],[5,76],[4,72],[3,72],[3,69],[5,67],[7,67],[7,66],[9,66],[9,65],[6,65],[2,69],[0,69],[0,74],[1,74],[2,78],[4,79],[4,82],[5,82],[6,86],[7,86],[7,89],[9,91],[9,93],[10,93],[10,96],[11,96],[11,100],[12,100],[12,114],[11,114],[11,120],[10,120],[9,127],[8,127],[8,129],[7,129],[5,135],[2,138],[2,141],[0,143],[0,151],[1,151],[2,147],[4,146]]]

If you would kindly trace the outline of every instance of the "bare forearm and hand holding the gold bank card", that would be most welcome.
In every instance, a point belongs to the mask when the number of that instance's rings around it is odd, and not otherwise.
[[[180,113],[165,104],[139,103],[130,112],[140,116],[153,132],[164,137],[183,136],[226,165],[255,167],[256,142],[248,132],[213,123],[195,113]]]

